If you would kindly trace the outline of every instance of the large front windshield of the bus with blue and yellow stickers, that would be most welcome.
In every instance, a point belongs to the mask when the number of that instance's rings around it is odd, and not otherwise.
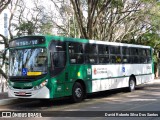
[[[47,73],[46,48],[10,50],[10,76],[34,76]]]

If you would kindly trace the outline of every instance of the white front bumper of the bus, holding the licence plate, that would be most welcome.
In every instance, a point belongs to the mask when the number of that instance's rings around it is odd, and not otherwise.
[[[49,89],[44,86],[39,90],[33,89],[10,89],[8,88],[8,97],[17,98],[50,98]]]

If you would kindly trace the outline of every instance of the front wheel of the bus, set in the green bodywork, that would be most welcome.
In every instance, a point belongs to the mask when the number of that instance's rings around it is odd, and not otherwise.
[[[81,102],[84,99],[84,89],[79,82],[76,82],[73,85],[71,98],[72,98],[72,101],[75,103]]]

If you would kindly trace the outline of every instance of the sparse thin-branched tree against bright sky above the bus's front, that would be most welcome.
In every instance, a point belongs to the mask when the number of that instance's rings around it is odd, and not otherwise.
[[[32,0],[32,3],[33,7],[29,7],[26,1],[18,1],[16,12],[10,20],[10,27],[17,32],[17,36],[52,34],[53,23],[46,8],[40,4],[41,0]]]

